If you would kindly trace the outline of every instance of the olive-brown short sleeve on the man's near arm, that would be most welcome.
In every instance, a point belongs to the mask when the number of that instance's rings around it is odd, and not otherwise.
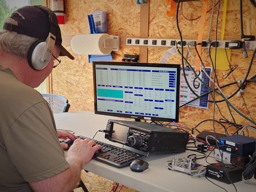
[[[25,181],[37,182],[69,167],[46,102],[27,109],[5,136],[9,158]]]

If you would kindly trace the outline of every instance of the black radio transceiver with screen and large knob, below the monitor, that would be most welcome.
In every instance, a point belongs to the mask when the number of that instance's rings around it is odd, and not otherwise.
[[[143,152],[184,152],[189,133],[158,124],[108,120],[105,138]]]

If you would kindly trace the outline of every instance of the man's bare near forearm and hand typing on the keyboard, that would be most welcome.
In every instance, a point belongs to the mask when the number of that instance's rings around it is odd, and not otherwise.
[[[30,183],[30,186],[36,192],[72,191],[80,180],[83,165],[88,163],[95,151],[99,149],[101,149],[101,146],[96,145],[93,140],[75,140],[68,151],[67,162],[69,163],[69,168],[50,178]]]

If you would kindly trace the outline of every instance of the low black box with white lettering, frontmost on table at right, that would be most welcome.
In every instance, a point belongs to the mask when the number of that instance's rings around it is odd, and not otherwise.
[[[228,184],[242,181],[242,172],[243,172],[243,169],[235,165],[213,163],[206,166],[207,177],[210,177]]]

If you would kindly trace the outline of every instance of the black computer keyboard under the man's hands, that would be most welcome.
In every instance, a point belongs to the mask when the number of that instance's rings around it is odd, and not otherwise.
[[[88,137],[85,136],[76,136],[79,139],[86,139]],[[129,151],[127,149],[123,149],[121,147],[116,147],[111,144],[107,144],[105,142],[101,142],[95,139],[88,138],[90,140],[94,140],[97,145],[101,145],[101,150],[95,152],[93,159],[99,160],[103,163],[107,163],[114,167],[125,167],[126,165],[130,165],[133,160],[144,157],[142,154],[135,153],[133,151]],[[62,143],[66,143],[71,147],[73,141],[70,139],[60,141]],[[69,147],[66,149],[68,150]]]

